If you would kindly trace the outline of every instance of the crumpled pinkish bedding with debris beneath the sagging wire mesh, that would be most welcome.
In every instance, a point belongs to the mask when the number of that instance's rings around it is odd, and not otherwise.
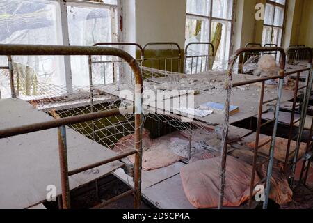
[[[216,153],[220,151],[221,141],[216,139],[214,130],[204,132],[194,130],[190,135],[187,131],[176,131],[166,134],[157,139],[149,137],[149,131],[143,130],[143,170],[150,171],[162,167],[168,167],[175,162],[186,160],[194,155]],[[192,141],[190,141],[190,137]],[[119,154],[126,153],[134,149],[134,134],[123,137],[115,144],[113,151]],[[219,152],[218,152],[219,153]],[[207,155],[215,157],[216,155]],[[205,156],[204,156],[205,157]],[[128,159],[134,163],[135,155],[130,155]]]

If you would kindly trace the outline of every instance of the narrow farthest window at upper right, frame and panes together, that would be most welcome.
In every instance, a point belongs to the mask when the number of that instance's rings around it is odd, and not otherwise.
[[[262,45],[282,45],[285,3],[286,0],[267,1],[265,7]]]

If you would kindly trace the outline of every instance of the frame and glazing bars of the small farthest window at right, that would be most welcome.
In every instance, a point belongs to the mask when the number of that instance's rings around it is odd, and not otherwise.
[[[263,29],[262,29],[262,41],[263,41],[263,37],[264,37],[264,27],[269,27],[271,29],[271,43],[264,43],[265,44],[277,44],[280,43],[280,45],[278,45],[279,47],[282,46],[282,41],[284,39],[284,29],[285,29],[285,22],[286,22],[286,12],[287,12],[287,2],[288,0],[285,0],[284,5],[281,3],[277,3],[275,2],[275,0],[266,0],[266,4],[269,4],[271,6],[273,6],[273,17],[272,17],[272,24],[264,24],[263,23]],[[282,20],[282,26],[276,26],[275,25],[275,11],[276,8],[283,8],[283,12],[284,12],[284,17]],[[274,29],[278,29],[281,30],[282,32],[282,36],[280,38],[280,40],[277,40],[277,43],[273,43],[273,33],[274,33]]]

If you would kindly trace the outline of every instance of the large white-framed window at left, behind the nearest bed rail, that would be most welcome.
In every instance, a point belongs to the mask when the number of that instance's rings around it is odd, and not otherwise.
[[[90,46],[118,39],[117,0],[64,2],[0,0],[0,43]],[[67,15],[64,17],[62,12]],[[62,26],[64,22],[67,26]],[[20,70],[31,70],[36,82],[66,85],[67,91],[72,84],[88,85],[88,57],[71,56],[68,60],[65,57],[13,56],[13,62]],[[0,56],[0,66],[8,66],[5,56]],[[0,70],[0,91],[2,98],[7,98],[10,86],[6,75],[1,75],[3,72],[6,71]],[[68,83],[69,79],[72,82]]]

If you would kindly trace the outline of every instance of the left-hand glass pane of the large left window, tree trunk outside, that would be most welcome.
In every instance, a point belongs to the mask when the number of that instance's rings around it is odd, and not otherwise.
[[[61,33],[58,20],[58,3],[56,1],[1,1],[0,43],[28,45],[60,45]],[[19,83],[31,75],[33,79],[31,95],[38,94],[38,82],[64,84],[63,62],[61,56],[13,56],[13,69],[19,77]],[[8,66],[6,56],[1,56],[1,64]],[[25,71],[26,70],[26,71]],[[1,70],[1,72],[6,72]],[[1,75],[5,78],[6,75]],[[24,79],[23,79],[24,78]],[[6,80],[0,79],[1,83]],[[36,83],[36,84],[34,84]],[[6,87],[9,87],[6,84]],[[19,86],[19,95],[30,95]],[[5,91],[1,89],[2,97]]]

